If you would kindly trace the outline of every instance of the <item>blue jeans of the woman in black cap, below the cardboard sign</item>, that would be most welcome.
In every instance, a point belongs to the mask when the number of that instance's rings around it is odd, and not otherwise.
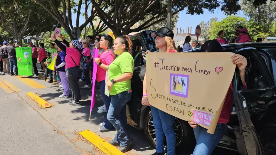
[[[167,155],[175,155],[176,138],[174,132],[175,117],[161,111],[154,106],[150,106],[152,110],[153,125],[156,135],[156,152],[163,153],[164,134],[167,142]]]

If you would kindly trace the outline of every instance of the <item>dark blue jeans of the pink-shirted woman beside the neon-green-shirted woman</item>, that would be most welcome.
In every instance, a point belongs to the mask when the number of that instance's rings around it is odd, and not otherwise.
[[[111,102],[111,95],[109,97],[105,95],[105,80],[102,80],[99,83],[100,83],[100,92],[102,95],[102,100],[105,103],[106,113],[108,113],[110,102]],[[115,127],[109,122],[109,120],[107,120],[107,118],[105,119],[105,128],[108,130],[115,129]]]

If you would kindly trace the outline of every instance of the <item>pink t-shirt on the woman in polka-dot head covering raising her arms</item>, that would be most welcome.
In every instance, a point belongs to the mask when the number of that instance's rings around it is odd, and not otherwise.
[[[75,48],[66,47],[66,57],[65,57],[65,68],[71,67],[79,67],[80,66],[80,52]],[[75,63],[73,62],[72,58],[74,59]]]

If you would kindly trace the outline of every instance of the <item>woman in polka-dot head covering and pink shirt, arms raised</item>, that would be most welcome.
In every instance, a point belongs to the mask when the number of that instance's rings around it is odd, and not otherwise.
[[[83,46],[78,40],[72,40],[69,47],[64,46],[60,41],[55,38],[55,34],[51,35],[51,38],[57,44],[57,46],[63,50],[67,55],[65,56],[65,71],[68,78],[69,86],[72,90],[72,98],[69,100],[69,106],[80,105],[80,87],[79,79],[82,74],[82,71],[79,69],[80,58],[82,56]],[[68,45],[65,39],[62,38],[62,35],[59,33],[59,38],[63,40],[65,45]]]

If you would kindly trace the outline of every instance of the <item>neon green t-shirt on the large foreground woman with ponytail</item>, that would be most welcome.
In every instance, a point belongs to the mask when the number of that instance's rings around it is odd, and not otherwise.
[[[110,81],[121,76],[124,73],[133,73],[134,69],[134,60],[129,52],[123,52],[121,55],[118,55],[117,58],[109,65],[108,72]],[[117,95],[123,91],[128,91],[131,89],[131,79],[118,82],[112,86],[110,95]]]

